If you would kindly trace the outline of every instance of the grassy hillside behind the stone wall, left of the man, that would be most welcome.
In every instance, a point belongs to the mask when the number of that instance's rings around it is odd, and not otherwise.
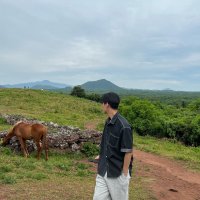
[[[87,123],[100,126],[105,119],[98,103],[32,89],[0,89],[0,113],[18,114],[80,128],[84,128]]]

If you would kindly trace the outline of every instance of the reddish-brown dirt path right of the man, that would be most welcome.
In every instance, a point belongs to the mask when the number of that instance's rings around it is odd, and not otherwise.
[[[148,180],[159,200],[200,200],[200,173],[193,173],[174,160],[134,151],[136,176]]]

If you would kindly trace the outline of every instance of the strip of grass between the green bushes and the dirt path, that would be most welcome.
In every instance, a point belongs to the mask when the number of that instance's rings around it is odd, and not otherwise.
[[[134,134],[134,145],[142,151],[183,161],[190,169],[200,171],[200,147],[186,147],[175,141],[137,134]]]

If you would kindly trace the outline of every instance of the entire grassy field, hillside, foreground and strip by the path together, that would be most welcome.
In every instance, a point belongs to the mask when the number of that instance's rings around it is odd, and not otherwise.
[[[101,130],[106,116],[101,105],[69,95],[39,90],[0,89],[0,113],[52,121],[60,125],[84,128],[94,123]],[[10,125],[0,118],[0,131]],[[200,171],[200,148],[180,143],[134,135],[137,149],[152,152]],[[82,154],[55,152],[50,149],[48,162],[37,161],[35,154],[24,159],[10,149],[0,147],[0,190],[6,199],[92,199],[95,167]],[[130,200],[155,199],[148,191],[145,178],[134,175],[130,185]]]

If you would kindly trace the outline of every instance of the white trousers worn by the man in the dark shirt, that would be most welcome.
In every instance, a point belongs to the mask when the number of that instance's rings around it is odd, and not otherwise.
[[[117,178],[108,178],[97,174],[93,200],[128,200],[130,175],[123,173]]]

